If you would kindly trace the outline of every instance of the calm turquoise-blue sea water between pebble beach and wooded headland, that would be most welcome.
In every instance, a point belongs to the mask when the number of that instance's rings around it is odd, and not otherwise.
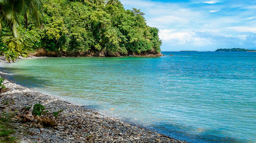
[[[256,52],[163,54],[27,59],[2,68],[27,87],[181,140],[255,142]]]

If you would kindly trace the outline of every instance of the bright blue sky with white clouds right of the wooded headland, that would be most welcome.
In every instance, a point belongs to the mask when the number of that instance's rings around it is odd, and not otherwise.
[[[256,49],[256,1],[121,0],[159,29],[162,51]]]

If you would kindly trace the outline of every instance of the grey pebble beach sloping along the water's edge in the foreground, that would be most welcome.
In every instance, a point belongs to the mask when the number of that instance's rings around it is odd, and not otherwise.
[[[0,62],[1,63],[1,62]],[[9,90],[0,96],[0,110],[17,111],[22,115],[25,106],[40,103],[46,109],[59,110],[58,118],[53,118],[56,127],[39,128],[35,121],[13,123],[17,129],[15,136],[21,142],[184,142],[154,131],[103,116],[101,113],[76,105],[55,96],[42,94],[23,87],[8,79],[8,74],[0,72]],[[6,100],[11,103],[3,105]],[[3,108],[4,107],[4,108]],[[32,133],[32,134],[30,134]]]

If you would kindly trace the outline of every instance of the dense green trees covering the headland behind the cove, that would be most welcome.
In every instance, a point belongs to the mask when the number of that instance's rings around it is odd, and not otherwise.
[[[44,19],[20,20],[20,39],[2,25],[0,54],[26,56],[28,51],[103,52],[106,56],[160,52],[158,29],[146,25],[144,13],[125,10],[118,0],[42,0]],[[6,26],[7,27],[7,26]],[[8,50],[8,44],[15,50]]]

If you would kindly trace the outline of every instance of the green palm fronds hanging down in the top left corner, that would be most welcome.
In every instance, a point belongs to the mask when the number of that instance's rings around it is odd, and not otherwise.
[[[19,37],[17,27],[20,24],[20,17],[25,19],[25,27],[28,26],[30,15],[36,25],[40,25],[42,14],[42,3],[40,0],[0,0],[0,30],[2,22],[5,22],[15,38]]]

